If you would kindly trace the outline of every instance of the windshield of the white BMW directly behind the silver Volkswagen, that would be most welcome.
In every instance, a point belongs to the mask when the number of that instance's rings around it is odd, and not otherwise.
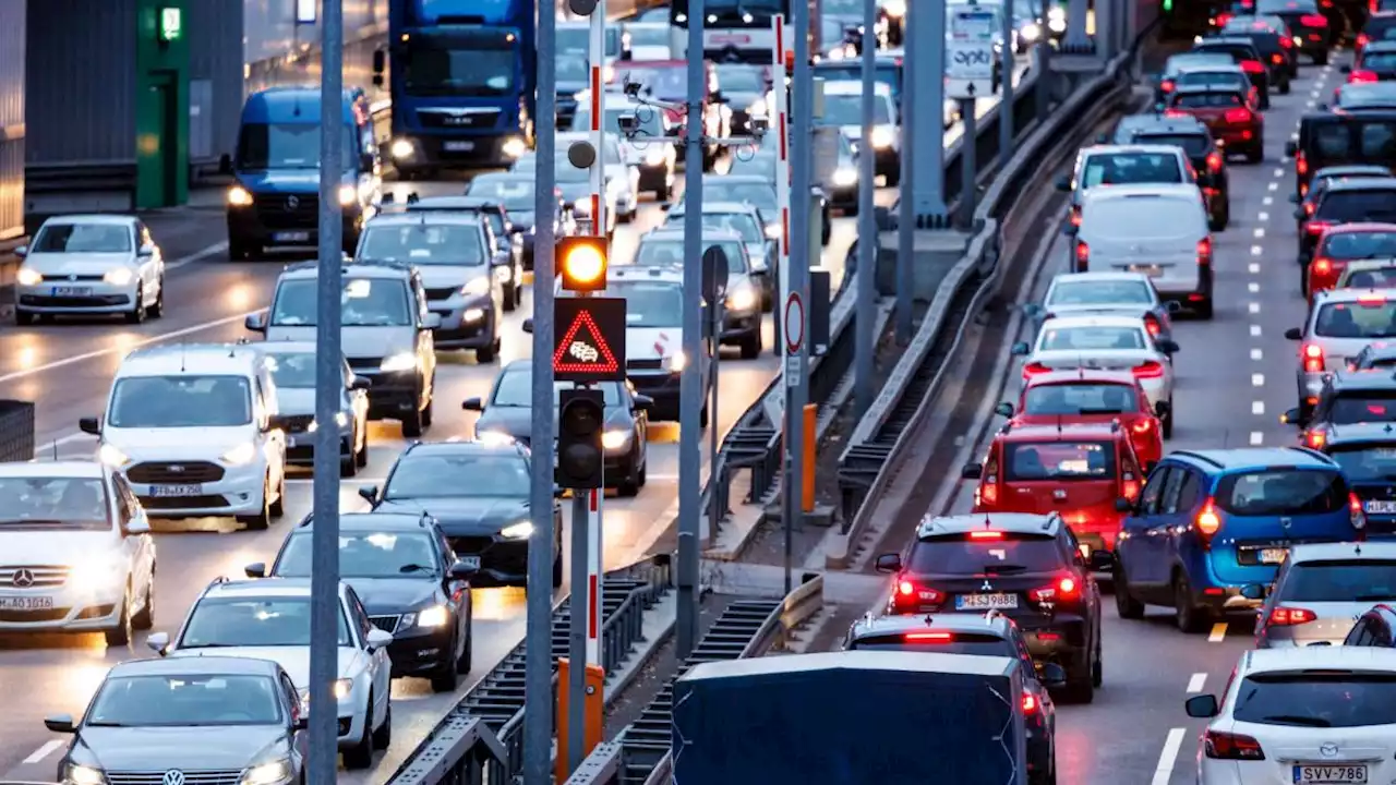
[[[310,532],[292,535],[288,549],[297,539],[309,545]],[[309,563],[307,555],[304,574],[283,573],[279,564],[276,574],[306,577],[310,574]],[[350,575],[345,570],[343,559],[339,560],[339,570],[343,577]],[[335,616],[339,617],[339,645],[349,645],[349,627],[345,626],[343,609]],[[309,596],[209,596],[201,599],[190,612],[184,634],[176,648],[271,645],[310,645]]]

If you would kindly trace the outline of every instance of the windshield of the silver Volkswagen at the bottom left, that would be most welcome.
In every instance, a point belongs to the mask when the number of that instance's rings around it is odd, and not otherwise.
[[[197,661],[191,670],[200,670]],[[102,684],[84,722],[98,728],[279,725],[279,694],[268,676],[117,676]]]

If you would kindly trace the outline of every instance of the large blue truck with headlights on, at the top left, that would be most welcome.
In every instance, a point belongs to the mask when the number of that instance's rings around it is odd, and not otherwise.
[[[550,8],[551,1],[543,0]],[[508,166],[533,141],[537,0],[391,0],[388,154],[403,176]]]

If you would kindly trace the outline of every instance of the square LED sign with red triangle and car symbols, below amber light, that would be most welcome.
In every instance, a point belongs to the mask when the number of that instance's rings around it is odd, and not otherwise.
[[[557,298],[553,377],[558,381],[625,380],[625,300]]]

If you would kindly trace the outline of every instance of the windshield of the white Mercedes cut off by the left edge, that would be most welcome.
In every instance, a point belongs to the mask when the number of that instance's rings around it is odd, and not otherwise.
[[[110,531],[106,489],[96,478],[0,478],[0,531]]]

